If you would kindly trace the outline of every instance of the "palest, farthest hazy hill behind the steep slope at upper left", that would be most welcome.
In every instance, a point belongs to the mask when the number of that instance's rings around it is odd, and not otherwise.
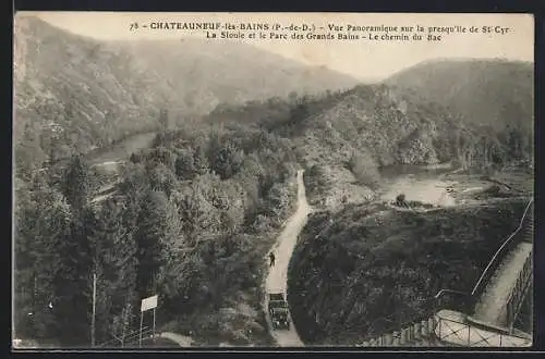
[[[178,91],[169,98],[171,106],[198,114],[218,104],[348,89],[359,83],[327,67],[305,66],[242,42],[183,39],[114,44],[146,66],[149,76]]]

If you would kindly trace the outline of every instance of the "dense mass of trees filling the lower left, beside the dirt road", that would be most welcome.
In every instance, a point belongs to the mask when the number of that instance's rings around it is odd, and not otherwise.
[[[267,249],[252,242],[289,210],[294,162],[282,138],[217,126],[162,131],[101,201],[77,154],[60,175],[17,178],[16,333],[88,345],[94,275],[96,343],[120,337],[149,295],[169,317],[258,287]]]

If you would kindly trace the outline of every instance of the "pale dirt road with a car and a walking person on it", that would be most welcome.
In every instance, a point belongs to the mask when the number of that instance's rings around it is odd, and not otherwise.
[[[272,251],[276,256],[276,263],[270,268],[266,280],[266,293],[282,292],[287,294],[288,281],[288,264],[290,263],[291,253],[295,248],[298,236],[306,223],[306,216],[311,211],[311,207],[306,201],[305,187],[303,183],[303,171],[298,171],[298,209],[289,219],[282,233],[278,237],[277,244]],[[267,322],[272,337],[281,347],[298,347],[303,346],[303,342],[299,338],[295,326],[290,318],[289,330],[272,330],[270,318],[267,311],[267,299],[265,299],[265,312],[267,312]]]

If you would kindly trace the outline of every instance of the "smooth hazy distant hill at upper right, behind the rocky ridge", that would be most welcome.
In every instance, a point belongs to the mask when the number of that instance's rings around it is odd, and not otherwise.
[[[435,60],[403,70],[385,83],[446,106],[473,124],[530,131],[534,123],[533,76],[531,62]]]

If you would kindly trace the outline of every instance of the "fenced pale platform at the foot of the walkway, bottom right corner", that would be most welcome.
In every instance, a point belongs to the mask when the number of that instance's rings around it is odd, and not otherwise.
[[[366,341],[359,347],[528,347],[532,341],[501,332],[492,332],[468,323],[463,318],[441,310],[434,317],[416,321],[400,331]]]

